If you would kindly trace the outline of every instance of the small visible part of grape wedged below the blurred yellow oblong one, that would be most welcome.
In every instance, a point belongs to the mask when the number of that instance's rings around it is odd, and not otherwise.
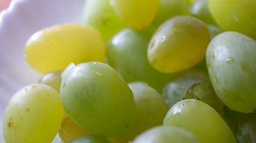
[[[38,83],[43,83],[45,85],[51,86],[55,91],[61,91],[61,70],[50,71],[49,73],[45,74]]]

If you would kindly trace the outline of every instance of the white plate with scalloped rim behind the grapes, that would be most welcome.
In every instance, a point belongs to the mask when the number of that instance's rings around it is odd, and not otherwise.
[[[0,142],[2,116],[11,96],[37,83],[41,74],[25,61],[24,46],[32,33],[62,23],[82,23],[85,0],[13,0],[0,14]],[[53,142],[58,142],[55,139]]]

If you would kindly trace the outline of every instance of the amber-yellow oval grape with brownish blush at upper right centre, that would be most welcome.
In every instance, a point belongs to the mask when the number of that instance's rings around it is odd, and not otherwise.
[[[156,30],[147,58],[152,67],[163,73],[185,70],[203,60],[209,42],[206,24],[194,17],[176,16]]]

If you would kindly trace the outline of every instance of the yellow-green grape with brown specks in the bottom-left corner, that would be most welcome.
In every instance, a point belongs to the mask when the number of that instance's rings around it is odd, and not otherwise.
[[[58,92],[44,84],[25,86],[11,97],[4,112],[6,143],[50,143],[61,127]]]

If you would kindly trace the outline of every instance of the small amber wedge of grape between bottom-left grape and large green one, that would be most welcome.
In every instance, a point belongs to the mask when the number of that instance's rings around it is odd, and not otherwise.
[[[91,133],[82,129],[72,119],[70,119],[67,113],[64,113],[61,128],[59,129],[59,138],[61,138],[61,141],[67,143],[79,136],[90,134]]]

